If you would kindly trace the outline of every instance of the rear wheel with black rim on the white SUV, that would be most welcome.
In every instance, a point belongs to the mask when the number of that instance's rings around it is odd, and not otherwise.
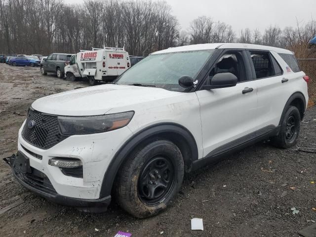
[[[300,133],[300,123],[300,112],[295,106],[290,106],[281,121],[279,134],[271,139],[272,144],[280,148],[295,146]]]

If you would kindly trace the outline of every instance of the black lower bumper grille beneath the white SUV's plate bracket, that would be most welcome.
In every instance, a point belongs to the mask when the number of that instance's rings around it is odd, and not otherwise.
[[[27,185],[45,193],[56,194],[56,190],[50,183],[48,177],[39,170],[31,167],[32,173],[22,173],[18,169],[13,169],[14,174]]]

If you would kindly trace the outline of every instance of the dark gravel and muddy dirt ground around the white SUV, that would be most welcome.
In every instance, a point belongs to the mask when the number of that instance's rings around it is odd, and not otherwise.
[[[16,151],[18,129],[34,100],[83,86],[87,82],[40,76],[39,68],[0,64],[0,158]],[[298,145],[316,151],[316,107],[301,123]],[[133,237],[295,237],[316,221],[315,164],[315,153],[262,142],[187,175],[172,206],[139,220],[115,202],[102,214],[50,203],[22,188],[0,160],[0,208],[23,201],[0,214],[0,236],[114,237],[120,230]],[[299,213],[292,214],[292,207]],[[204,231],[190,230],[193,217],[203,218]]]

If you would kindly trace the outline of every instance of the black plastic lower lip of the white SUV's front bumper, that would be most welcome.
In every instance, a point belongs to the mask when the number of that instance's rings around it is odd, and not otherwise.
[[[104,212],[107,210],[107,207],[111,202],[111,196],[103,197],[100,199],[81,199],[59,195],[51,186],[51,183],[48,180],[47,176],[45,176],[39,170],[35,170],[35,172],[37,172],[37,175],[40,174],[42,177],[44,177],[44,179],[40,181],[40,178],[38,178],[39,176],[34,176],[35,178],[30,178],[12,167],[10,163],[10,158],[5,158],[4,160],[10,165],[14,178],[24,188],[40,197],[44,197],[51,202],[55,202],[57,204],[65,206],[76,207],[80,211],[84,212]]]

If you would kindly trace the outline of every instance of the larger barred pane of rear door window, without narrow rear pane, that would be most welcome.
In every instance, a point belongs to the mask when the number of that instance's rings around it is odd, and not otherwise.
[[[250,51],[257,79],[275,76],[270,53],[262,51]]]

